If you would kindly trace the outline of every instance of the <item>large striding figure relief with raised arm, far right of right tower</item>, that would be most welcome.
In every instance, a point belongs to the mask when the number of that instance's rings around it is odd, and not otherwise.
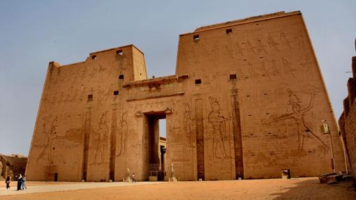
[[[314,96],[316,95],[313,91],[311,92],[311,98],[309,105],[306,108],[301,107],[302,100],[295,95],[291,89],[287,89],[288,92],[288,105],[292,107],[292,113],[282,114],[281,116],[272,116],[274,122],[284,121],[287,119],[292,119],[297,125],[297,136],[298,136],[298,153],[303,151],[304,139],[310,138],[317,141],[325,149],[325,153],[329,147],[318,137],[305,123],[304,116],[307,111],[313,108]]]

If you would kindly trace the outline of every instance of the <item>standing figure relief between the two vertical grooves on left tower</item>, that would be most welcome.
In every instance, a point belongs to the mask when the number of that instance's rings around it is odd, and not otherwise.
[[[107,141],[107,134],[109,133],[109,127],[107,125],[107,111],[101,114],[100,121],[98,122],[98,128],[93,130],[93,135],[96,135],[97,144],[94,161],[91,164],[101,164],[104,162],[105,147]]]

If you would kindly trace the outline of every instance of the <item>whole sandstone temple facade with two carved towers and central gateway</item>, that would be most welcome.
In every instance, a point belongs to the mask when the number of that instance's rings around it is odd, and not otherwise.
[[[147,79],[133,45],[51,62],[27,175],[117,181],[129,168],[147,180],[163,165],[168,180],[173,164],[179,180],[318,176],[332,153],[344,170],[338,132],[302,14],[273,13],[180,35],[168,77]]]

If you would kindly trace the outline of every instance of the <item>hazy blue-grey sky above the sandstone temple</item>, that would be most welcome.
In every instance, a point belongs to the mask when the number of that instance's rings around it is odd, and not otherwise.
[[[134,44],[149,77],[173,75],[179,34],[281,10],[302,11],[338,119],[355,56],[355,0],[0,0],[0,153],[28,155],[48,62]]]

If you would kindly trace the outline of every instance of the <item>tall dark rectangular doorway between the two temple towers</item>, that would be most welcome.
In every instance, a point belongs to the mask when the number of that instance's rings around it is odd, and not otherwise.
[[[148,155],[146,180],[165,180],[166,125],[164,111],[145,113],[148,130]]]

